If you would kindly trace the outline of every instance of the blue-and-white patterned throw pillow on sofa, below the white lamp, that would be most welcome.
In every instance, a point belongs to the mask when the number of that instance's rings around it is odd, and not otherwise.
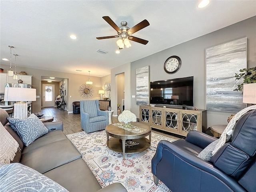
[[[34,140],[48,133],[48,129],[35,114],[31,114],[27,119],[7,118],[11,128],[20,136],[26,146]]]

